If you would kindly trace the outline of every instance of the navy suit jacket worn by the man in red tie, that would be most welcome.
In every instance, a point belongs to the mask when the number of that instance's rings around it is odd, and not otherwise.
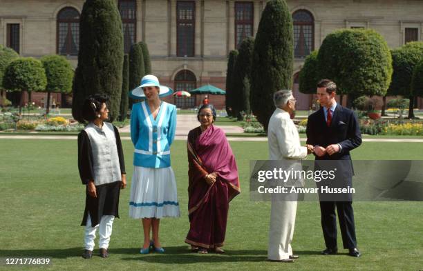
[[[316,160],[351,160],[350,150],[361,145],[361,132],[359,122],[353,110],[337,104],[333,113],[330,126],[326,124],[323,108],[310,114],[307,121],[307,143],[320,145],[323,148],[331,144],[341,145],[341,151],[335,154],[325,154],[323,157],[316,156]],[[353,165],[346,169],[352,176]]]

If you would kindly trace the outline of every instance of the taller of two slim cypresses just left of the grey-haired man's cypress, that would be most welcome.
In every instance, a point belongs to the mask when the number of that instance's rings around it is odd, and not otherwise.
[[[239,47],[239,54],[236,58],[234,75],[232,77],[235,97],[233,110],[235,116],[238,116],[238,113],[241,111],[250,113],[250,75],[253,51],[254,39],[247,37],[241,42]]]

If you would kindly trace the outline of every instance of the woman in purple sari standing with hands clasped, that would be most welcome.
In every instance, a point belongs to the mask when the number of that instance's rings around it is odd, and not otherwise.
[[[201,106],[197,119],[200,126],[189,131],[187,141],[190,227],[185,243],[199,253],[223,253],[229,201],[241,192],[238,168],[225,132],[213,125],[214,106]]]

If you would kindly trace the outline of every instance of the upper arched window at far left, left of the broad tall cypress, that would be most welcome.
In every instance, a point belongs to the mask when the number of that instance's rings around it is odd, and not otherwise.
[[[79,50],[79,12],[66,7],[57,14],[57,53],[77,55]]]

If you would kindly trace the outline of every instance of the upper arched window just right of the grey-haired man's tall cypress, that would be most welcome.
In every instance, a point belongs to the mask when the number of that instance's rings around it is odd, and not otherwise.
[[[294,21],[294,55],[307,57],[314,50],[314,18],[307,10],[297,10],[292,14]]]

